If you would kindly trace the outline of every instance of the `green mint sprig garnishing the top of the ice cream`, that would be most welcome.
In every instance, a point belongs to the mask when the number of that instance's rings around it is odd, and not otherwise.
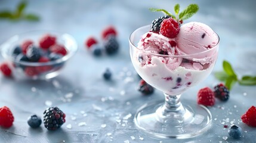
[[[166,11],[164,9],[149,8],[149,10],[152,12],[161,11],[164,14],[171,16],[175,20],[180,21],[180,20],[187,20],[188,18],[192,17],[194,14],[196,14],[198,12],[199,7],[197,4],[190,4],[189,6],[187,6],[185,8],[185,10],[181,11],[181,13],[180,13],[180,5],[176,4],[174,6],[175,15],[169,13],[168,11]]]

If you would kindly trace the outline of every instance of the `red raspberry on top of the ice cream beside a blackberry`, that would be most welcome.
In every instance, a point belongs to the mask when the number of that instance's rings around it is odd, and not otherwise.
[[[180,26],[173,18],[164,19],[161,23],[160,33],[168,38],[175,38],[180,32]]]

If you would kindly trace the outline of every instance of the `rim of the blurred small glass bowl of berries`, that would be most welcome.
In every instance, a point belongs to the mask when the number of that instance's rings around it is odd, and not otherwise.
[[[10,48],[10,47],[8,47],[8,43],[10,41],[11,42],[16,41],[18,36],[26,35],[26,34],[29,34],[29,33],[36,33],[36,32],[53,33],[53,34],[55,33],[55,34],[58,34],[58,35],[67,36],[67,38],[70,39],[73,42],[72,48],[70,48],[71,50],[68,50],[67,54],[64,55],[63,57],[61,57],[57,60],[54,60],[54,61],[48,61],[48,62],[44,62],[44,63],[31,62],[31,61],[16,61],[13,56],[7,54],[7,50],[10,50],[10,49],[8,49],[8,48]],[[67,61],[70,57],[72,57],[76,53],[76,51],[78,51],[78,45],[77,45],[75,39],[73,38],[73,36],[71,36],[67,33],[61,33],[61,32],[55,31],[55,30],[30,30],[30,31],[27,31],[27,32],[18,33],[14,36],[11,36],[7,40],[5,40],[3,43],[1,43],[0,50],[1,50],[2,57],[4,57],[5,60],[11,61],[12,63],[21,64],[21,65],[24,65],[24,66],[34,66],[34,67],[35,66],[51,66],[53,64],[59,64],[59,63],[62,63],[64,61]]]

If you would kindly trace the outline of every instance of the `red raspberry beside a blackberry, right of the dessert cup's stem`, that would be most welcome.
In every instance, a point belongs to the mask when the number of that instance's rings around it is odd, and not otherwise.
[[[198,92],[198,104],[212,106],[215,104],[214,92],[206,87],[202,88]]]

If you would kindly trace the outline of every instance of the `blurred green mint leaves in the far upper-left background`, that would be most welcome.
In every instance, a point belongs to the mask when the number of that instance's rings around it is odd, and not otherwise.
[[[0,18],[8,20],[29,20],[29,21],[38,21],[39,17],[35,14],[25,14],[24,10],[27,7],[27,1],[21,1],[15,11],[0,11]]]

